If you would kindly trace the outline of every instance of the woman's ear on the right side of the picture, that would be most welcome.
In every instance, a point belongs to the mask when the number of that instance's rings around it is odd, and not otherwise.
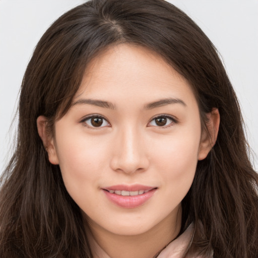
[[[215,145],[219,132],[220,113],[218,108],[213,108],[207,114],[208,122],[206,123],[207,131],[202,133],[202,138],[199,146],[198,160],[203,160],[207,157],[208,153]]]

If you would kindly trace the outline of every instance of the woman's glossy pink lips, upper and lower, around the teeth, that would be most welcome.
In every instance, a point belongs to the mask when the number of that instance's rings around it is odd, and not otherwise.
[[[109,192],[109,190],[111,192]],[[147,192],[144,192],[142,194],[136,195],[136,196],[122,196],[117,195],[116,193],[113,193],[112,191],[140,191],[144,190]],[[137,208],[144,203],[146,203],[155,193],[157,190],[157,187],[151,187],[141,184],[134,184],[134,185],[113,185],[110,187],[106,187],[103,189],[106,197],[117,206],[120,206],[122,208]]]

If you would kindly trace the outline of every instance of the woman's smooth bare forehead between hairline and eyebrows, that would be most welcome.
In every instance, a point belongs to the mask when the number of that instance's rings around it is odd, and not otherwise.
[[[156,52],[136,45],[110,46],[88,64],[75,100],[147,102],[159,98],[195,101],[189,83]]]

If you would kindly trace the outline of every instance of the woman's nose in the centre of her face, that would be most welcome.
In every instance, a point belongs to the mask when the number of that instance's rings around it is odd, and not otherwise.
[[[149,167],[143,136],[132,126],[124,127],[115,135],[110,166],[127,174],[143,172]]]

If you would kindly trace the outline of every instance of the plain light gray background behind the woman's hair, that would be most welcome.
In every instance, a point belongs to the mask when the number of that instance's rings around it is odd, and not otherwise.
[[[121,0],[126,1],[126,0]],[[139,0],[140,1],[140,0]],[[12,147],[19,88],[39,38],[61,14],[84,0],[0,0],[0,173]],[[258,167],[258,1],[174,0],[220,51],[239,98]],[[8,156],[8,157],[7,157]]]

